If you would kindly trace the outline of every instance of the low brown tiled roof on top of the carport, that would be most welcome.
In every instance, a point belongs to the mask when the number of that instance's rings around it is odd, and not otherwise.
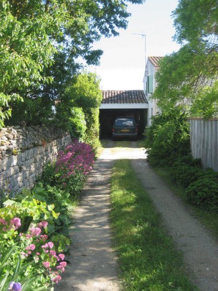
[[[143,90],[102,91],[102,104],[148,103]]]

